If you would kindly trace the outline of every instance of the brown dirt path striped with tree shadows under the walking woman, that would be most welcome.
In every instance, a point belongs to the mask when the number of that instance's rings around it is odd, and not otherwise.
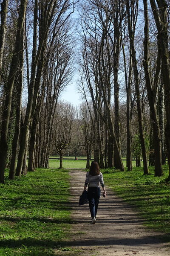
[[[143,220],[122,199],[107,191],[100,198],[96,224],[91,224],[88,204],[79,207],[79,196],[85,181],[85,172],[71,171],[71,207],[73,235],[68,247],[73,251],[57,255],[74,256],[170,256],[170,247],[162,243],[161,234],[146,230]]]

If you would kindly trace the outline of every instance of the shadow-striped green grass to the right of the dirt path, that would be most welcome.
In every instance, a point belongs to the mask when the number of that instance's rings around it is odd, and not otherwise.
[[[164,175],[154,177],[154,168],[150,167],[151,175],[143,175],[143,169],[133,168],[132,172],[119,170],[101,170],[105,183],[127,204],[137,208],[139,216],[145,219],[147,227],[166,234],[170,233],[170,183],[165,183],[168,176],[167,165],[163,166]]]

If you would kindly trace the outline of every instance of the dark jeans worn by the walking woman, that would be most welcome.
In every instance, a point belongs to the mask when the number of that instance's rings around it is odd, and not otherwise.
[[[91,218],[96,217],[100,192],[100,187],[88,187],[88,203],[91,212]]]

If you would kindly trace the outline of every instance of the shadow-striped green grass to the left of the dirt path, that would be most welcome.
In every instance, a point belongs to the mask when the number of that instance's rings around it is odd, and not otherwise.
[[[7,173],[6,173],[7,175]],[[54,256],[71,226],[66,170],[37,169],[0,184],[0,256]]]

